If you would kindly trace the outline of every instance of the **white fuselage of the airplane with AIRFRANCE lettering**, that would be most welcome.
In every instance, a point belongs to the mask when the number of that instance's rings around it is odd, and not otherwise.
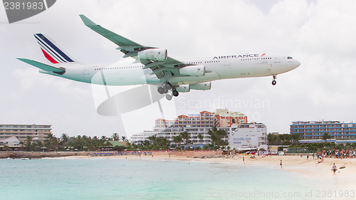
[[[206,73],[201,76],[180,76],[179,69],[174,69],[174,76],[169,78],[172,85],[204,83],[212,80],[229,78],[249,78],[277,75],[297,68],[300,63],[288,56],[276,53],[247,53],[234,56],[215,56],[194,60],[182,60],[188,65],[204,65]],[[70,80],[99,85],[161,85],[163,79],[150,75],[150,68],[144,69],[142,63],[117,62],[112,64],[58,64],[66,68],[66,73],[57,75]]]

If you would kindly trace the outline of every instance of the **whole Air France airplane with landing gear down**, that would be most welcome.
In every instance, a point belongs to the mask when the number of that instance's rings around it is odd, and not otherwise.
[[[298,68],[300,62],[277,53],[242,53],[176,60],[167,56],[167,49],[142,46],[113,33],[80,14],[85,26],[117,44],[129,63],[83,64],[64,53],[54,41],[42,33],[34,34],[43,55],[52,64],[17,58],[40,69],[40,73],[98,85],[157,85],[157,92],[167,100],[190,90],[210,90],[211,81],[231,78],[276,76]],[[125,60],[125,59],[124,59]],[[132,60],[132,59],[131,59]]]

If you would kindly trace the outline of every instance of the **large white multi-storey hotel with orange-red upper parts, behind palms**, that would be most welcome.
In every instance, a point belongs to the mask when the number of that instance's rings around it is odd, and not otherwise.
[[[246,123],[247,116],[241,112],[230,112],[227,109],[217,109],[216,112],[201,111],[196,115],[179,115],[174,120],[165,120],[159,118],[155,120],[155,127],[152,131],[145,131],[139,134],[132,135],[130,141],[133,144],[142,144],[148,140],[150,136],[166,138],[175,144],[174,136],[181,132],[188,132],[190,142],[192,144],[209,144],[208,132],[211,127],[217,127],[219,130],[226,130],[226,132],[233,132],[237,125]],[[202,135],[200,139],[198,135]]]

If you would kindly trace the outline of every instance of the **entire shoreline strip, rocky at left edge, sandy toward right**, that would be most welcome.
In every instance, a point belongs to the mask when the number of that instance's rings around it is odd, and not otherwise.
[[[270,155],[267,157],[256,156],[251,159],[248,155],[222,155],[219,151],[187,151],[187,152],[165,152],[165,151],[147,151],[150,154],[110,154],[100,156],[98,152],[8,152],[4,157],[4,152],[0,158],[10,159],[159,159],[159,160],[181,160],[181,161],[199,161],[210,163],[224,163],[241,166],[265,166],[274,169],[281,169],[280,161],[283,161],[283,171],[302,174],[305,177],[330,177],[333,176],[331,167],[333,163],[337,166],[337,172],[334,177],[355,177],[356,178],[356,159],[336,159],[325,158],[318,164],[318,159],[298,155]],[[146,152],[146,153],[147,153]],[[94,156],[96,153],[96,156]],[[129,152],[132,153],[132,152]],[[12,154],[12,156],[11,156]],[[1,157],[2,155],[2,157]],[[153,157],[152,157],[153,155]],[[242,161],[245,157],[245,162]],[[345,167],[345,169],[340,169]]]

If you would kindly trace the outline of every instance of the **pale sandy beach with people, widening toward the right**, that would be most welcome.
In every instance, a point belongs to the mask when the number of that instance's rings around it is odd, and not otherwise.
[[[243,162],[243,157],[245,162]],[[235,155],[235,156],[224,156],[224,157],[213,157],[213,158],[197,158],[197,157],[179,157],[175,155],[115,155],[110,157],[91,157],[91,156],[72,156],[66,157],[66,159],[164,159],[164,160],[194,160],[201,162],[217,162],[226,163],[234,165],[258,165],[272,167],[275,169],[281,169],[280,162],[283,162],[283,169],[288,172],[295,172],[303,174],[306,177],[333,177],[333,172],[331,167],[335,163],[337,166],[337,177],[356,177],[356,159],[335,159],[335,158],[325,158],[323,162],[318,163],[317,159],[309,157],[307,159],[305,156],[300,157],[298,155],[286,155],[286,156],[256,156],[255,159],[251,159],[247,155]],[[345,169],[339,169],[340,167],[345,167]]]

